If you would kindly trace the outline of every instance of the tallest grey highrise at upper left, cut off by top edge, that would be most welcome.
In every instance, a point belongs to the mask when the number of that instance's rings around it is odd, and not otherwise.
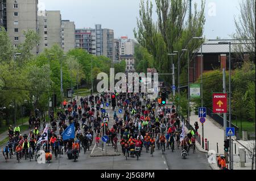
[[[6,7],[3,13],[6,13],[7,32],[15,47],[24,42],[23,31],[38,32],[38,0],[6,0],[3,1],[3,7]],[[34,48],[32,53],[38,53],[38,48]]]

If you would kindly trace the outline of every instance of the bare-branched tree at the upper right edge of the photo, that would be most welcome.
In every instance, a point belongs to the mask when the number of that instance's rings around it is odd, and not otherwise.
[[[237,47],[238,52],[248,52],[251,60],[255,58],[255,0],[244,0],[240,3],[241,15],[235,19],[236,34],[234,37],[245,43],[245,48]]]

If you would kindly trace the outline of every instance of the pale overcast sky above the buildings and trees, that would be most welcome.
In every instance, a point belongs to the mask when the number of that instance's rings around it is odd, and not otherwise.
[[[154,0],[153,0],[154,1]],[[204,35],[207,39],[230,38],[234,33],[234,17],[240,14],[239,3],[243,0],[206,0]],[[76,28],[102,28],[114,30],[115,38],[129,36],[134,39],[140,0],[39,0],[39,9],[60,10],[62,19],[74,21]],[[192,3],[201,0],[192,0]],[[157,20],[154,8],[154,19]]]

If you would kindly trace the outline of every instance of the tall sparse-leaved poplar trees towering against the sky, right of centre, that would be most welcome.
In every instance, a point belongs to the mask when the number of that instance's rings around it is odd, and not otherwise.
[[[159,73],[170,73],[171,57],[167,56],[174,50],[181,52],[181,49],[189,49],[190,52],[200,47],[200,41],[192,41],[194,36],[202,36],[205,23],[204,7],[202,1],[201,11],[195,13],[191,22],[185,20],[188,10],[188,3],[180,0],[155,0],[158,22],[152,20],[152,2],[141,1],[139,19],[137,19],[137,30],[134,35],[142,47],[146,48],[154,56],[154,68]],[[193,54],[191,55],[191,57]],[[174,57],[174,64],[177,65],[177,57]],[[180,68],[187,65],[187,59],[181,58]],[[181,73],[181,72],[180,72]],[[176,76],[177,77],[177,74]],[[165,76],[166,82],[171,82],[170,76]]]

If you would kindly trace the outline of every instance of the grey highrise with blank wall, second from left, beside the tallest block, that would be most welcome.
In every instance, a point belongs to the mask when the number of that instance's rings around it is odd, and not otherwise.
[[[60,11],[39,11],[39,35],[41,37],[39,52],[57,44],[61,47],[61,15]]]

